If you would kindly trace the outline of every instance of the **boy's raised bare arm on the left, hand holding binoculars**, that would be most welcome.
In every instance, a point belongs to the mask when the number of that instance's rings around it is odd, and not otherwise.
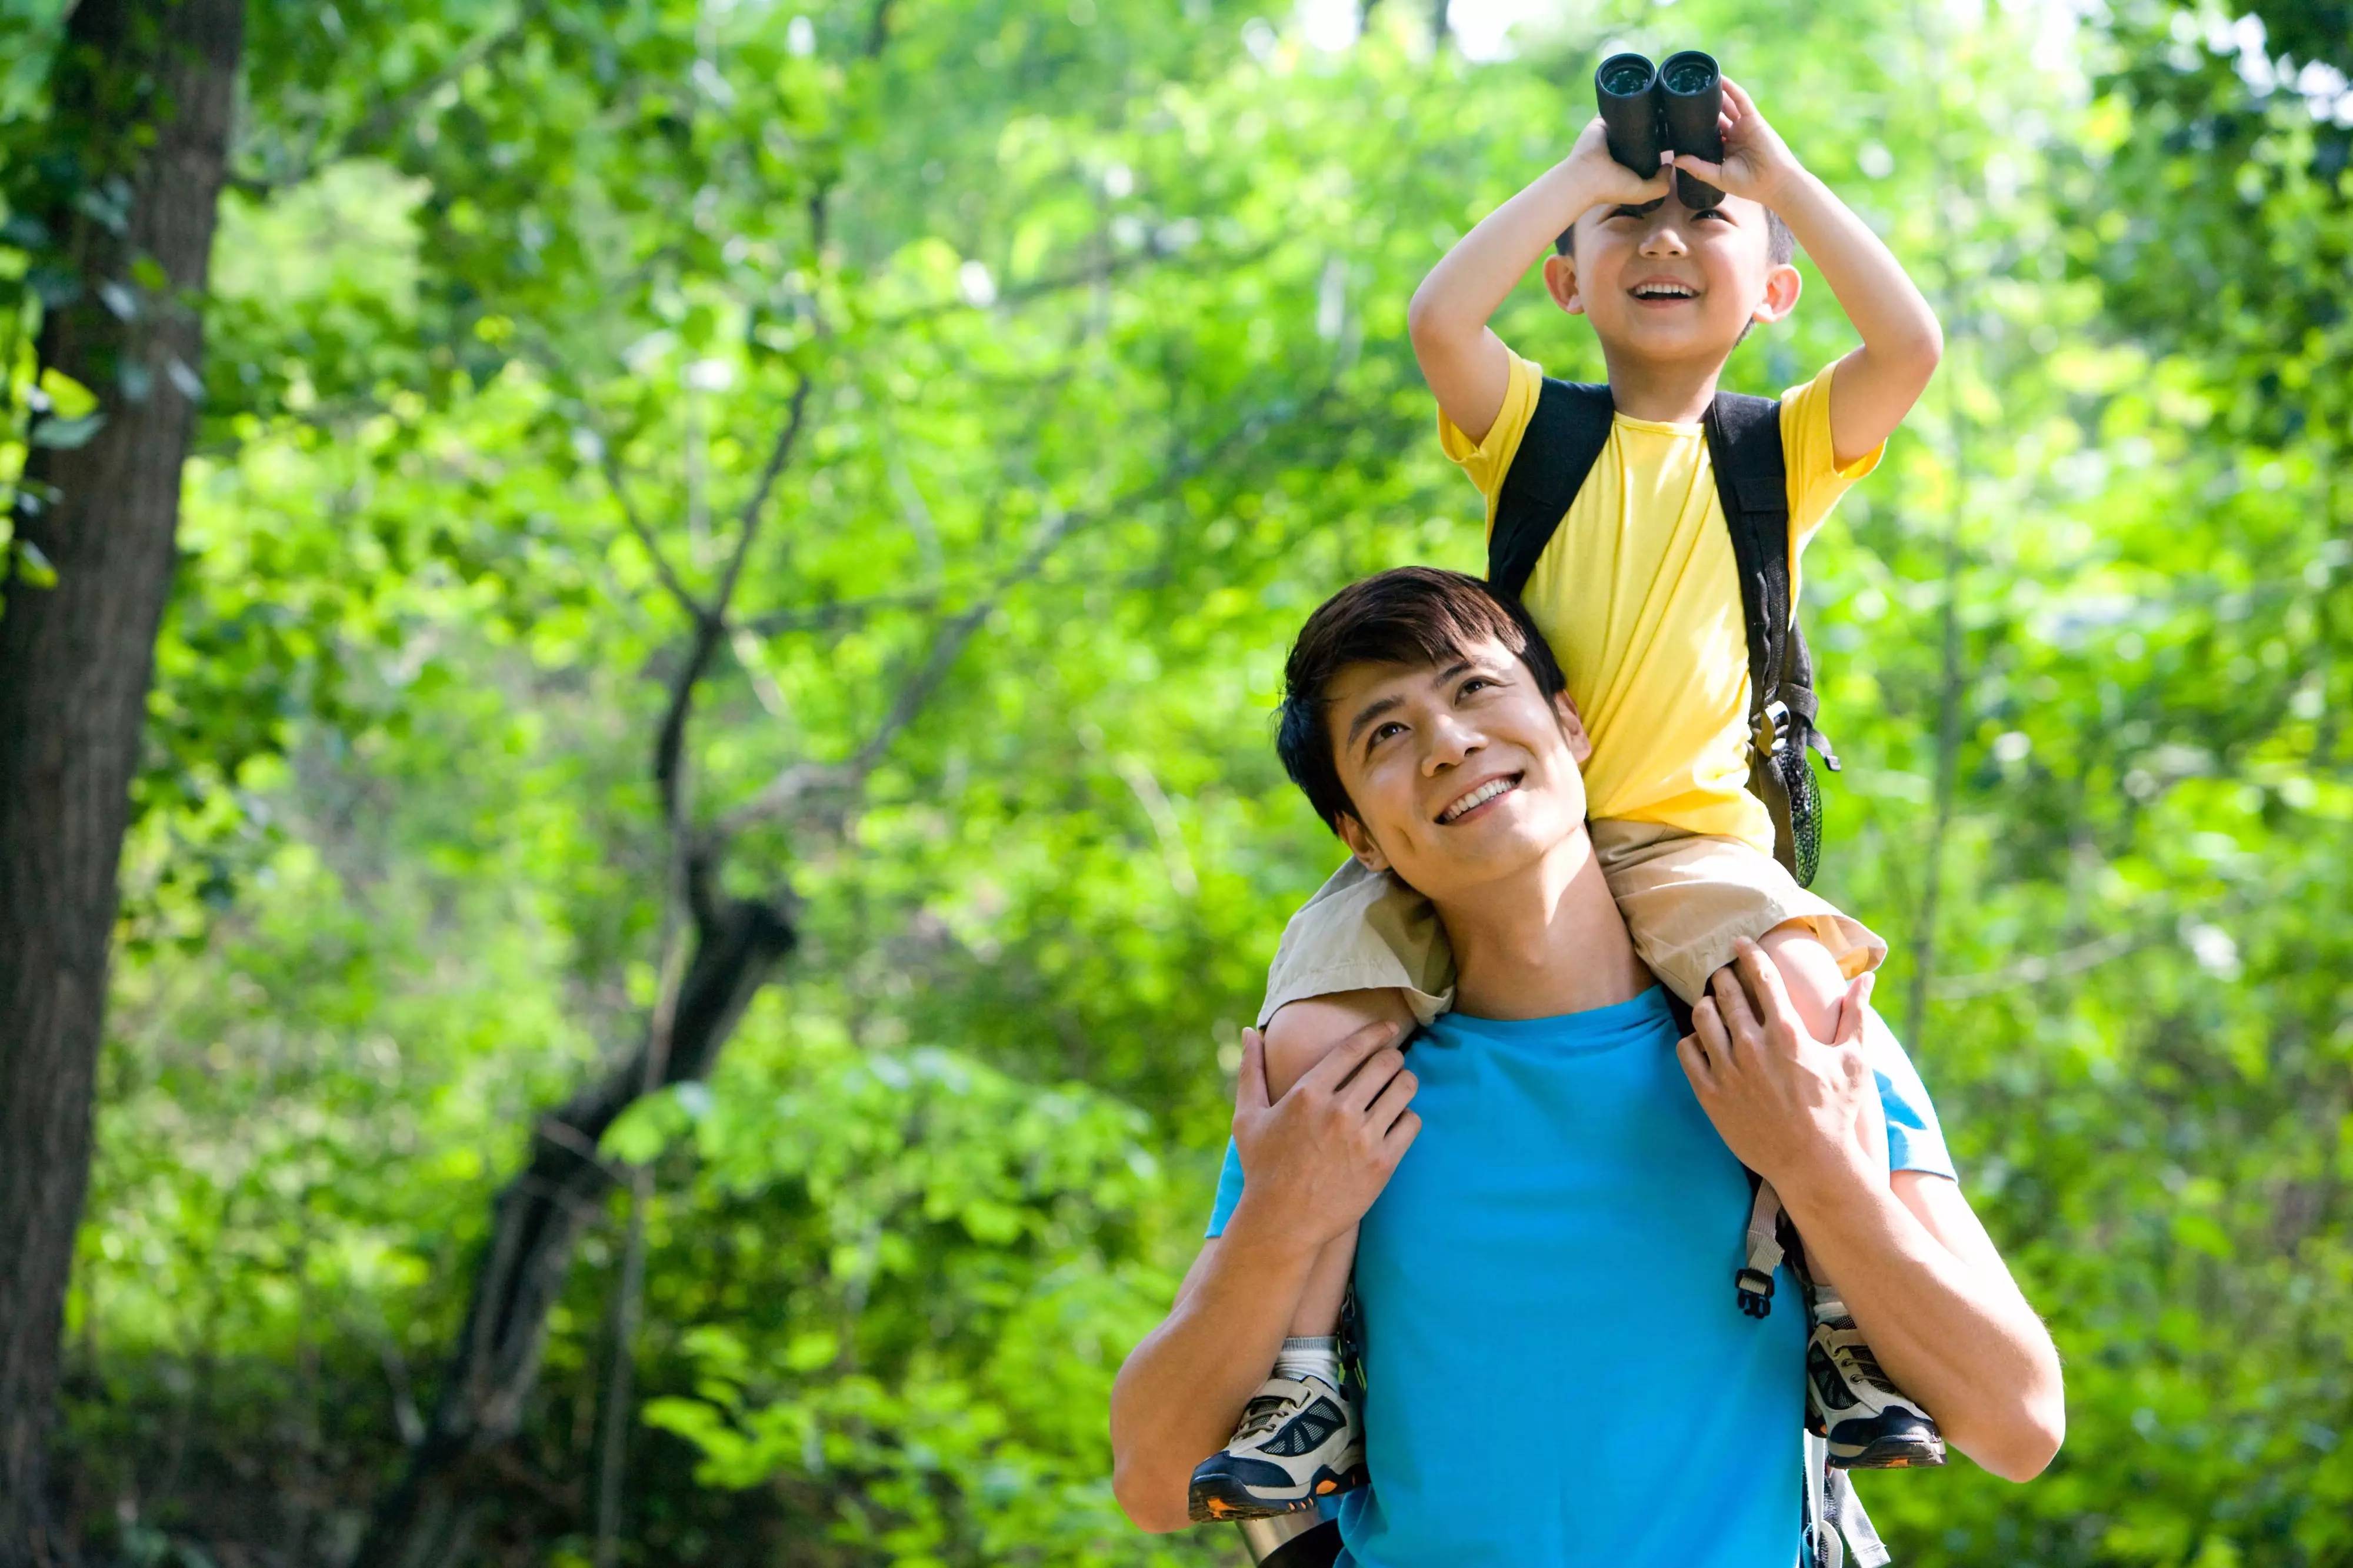
[[[1487,318],[1560,231],[1600,202],[1647,202],[1666,195],[1666,174],[1642,179],[1609,155],[1600,115],[1569,155],[1480,219],[1414,290],[1405,313],[1421,377],[1464,436],[1487,440],[1511,388],[1511,351]]]

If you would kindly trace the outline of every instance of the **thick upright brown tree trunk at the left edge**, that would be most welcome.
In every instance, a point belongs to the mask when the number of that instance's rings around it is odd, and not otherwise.
[[[40,445],[61,426],[35,414],[14,525],[56,584],[0,560],[0,1568],[73,1556],[47,1509],[59,1330],[242,35],[242,0],[82,0],[49,78],[54,158],[19,207],[47,228],[35,261],[78,285],[52,294],[40,363],[106,424]]]

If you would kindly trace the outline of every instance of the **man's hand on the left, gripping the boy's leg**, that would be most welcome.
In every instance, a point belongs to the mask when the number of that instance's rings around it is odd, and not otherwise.
[[[1242,1083],[1233,1097],[1242,1205],[1315,1245],[1365,1217],[1421,1132],[1421,1116],[1407,1109],[1421,1081],[1391,1045],[1398,1034],[1388,1022],[1358,1029],[1282,1099],[1268,1102],[1266,1041],[1257,1029],[1242,1031]]]

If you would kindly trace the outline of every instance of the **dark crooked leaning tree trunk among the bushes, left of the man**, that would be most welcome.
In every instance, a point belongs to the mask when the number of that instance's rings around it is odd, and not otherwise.
[[[708,1076],[744,1008],[793,951],[786,899],[708,897],[694,873],[694,956],[678,989],[668,1055],[656,1085]],[[614,1172],[598,1140],[649,1088],[654,1026],[626,1062],[584,1085],[532,1130],[529,1163],[494,1203],[475,1264],[466,1326],[442,1375],[433,1422],[409,1450],[400,1483],[376,1504],[353,1568],[442,1568],[466,1561],[471,1471],[522,1429],[548,1309],[572,1267],[581,1229],[600,1212]]]

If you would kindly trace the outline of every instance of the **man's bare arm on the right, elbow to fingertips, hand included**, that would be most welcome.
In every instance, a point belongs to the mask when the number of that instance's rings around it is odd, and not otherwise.
[[[1948,1443],[2031,1481],[2066,1434],[2059,1351],[1960,1184],[1913,1170],[1889,1182],[1859,1043],[1868,977],[1847,994],[1838,1038],[1821,1043],[1762,949],[1744,944],[1734,970],[1692,1008],[1680,1048],[1701,1109],[1781,1194],[1887,1375]]]

